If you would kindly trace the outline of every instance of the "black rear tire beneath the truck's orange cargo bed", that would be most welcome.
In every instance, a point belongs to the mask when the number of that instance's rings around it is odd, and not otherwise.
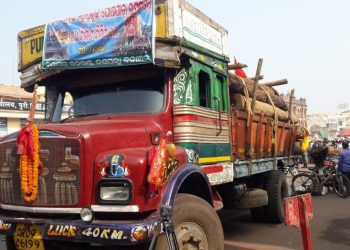
[[[286,175],[279,170],[269,172],[266,179],[266,189],[269,203],[264,206],[264,215],[267,222],[284,222],[283,200],[288,196]]]

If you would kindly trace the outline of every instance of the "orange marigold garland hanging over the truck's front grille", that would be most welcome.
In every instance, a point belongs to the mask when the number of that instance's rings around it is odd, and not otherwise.
[[[20,156],[21,188],[23,198],[33,202],[38,193],[39,179],[39,130],[36,125],[29,125],[32,128],[33,159],[27,154]]]

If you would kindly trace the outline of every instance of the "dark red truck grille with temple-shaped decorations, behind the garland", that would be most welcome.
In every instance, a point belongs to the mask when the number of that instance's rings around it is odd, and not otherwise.
[[[19,155],[15,141],[0,144],[0,203],[25,206],[76,205],[80,189],[78,139],[40,138],[38,196],[33,203],[22,198]]]

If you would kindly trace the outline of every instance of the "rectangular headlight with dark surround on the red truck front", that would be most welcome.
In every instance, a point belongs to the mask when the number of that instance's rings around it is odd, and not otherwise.
[[[132,200],[132,186],[126,179],[103,180],[97,185],[97,199],[102,204],[128,204]]]

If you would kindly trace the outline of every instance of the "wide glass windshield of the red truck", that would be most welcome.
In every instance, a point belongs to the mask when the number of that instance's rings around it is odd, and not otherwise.
[[[158,113],[164,106],[164,91],[163,78],[65,89],[64,95],[57,95],[52,122],[104,114]]]

